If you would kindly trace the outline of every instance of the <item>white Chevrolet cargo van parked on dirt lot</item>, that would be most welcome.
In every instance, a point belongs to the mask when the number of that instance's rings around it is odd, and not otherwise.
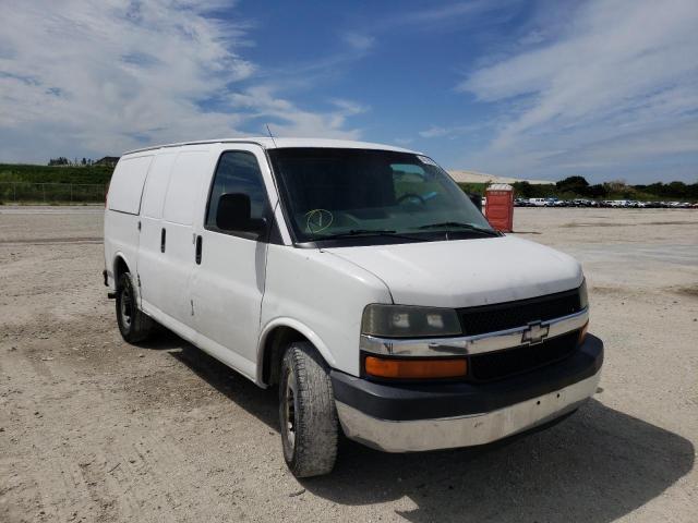
[[[489,443],[591,397],[577,262],[493,230],[431,158],[327,139],[125,154],[105,211],[123,338],[154,321],[279,388],[284,457],[332,470],[338,436],[388,452]]]

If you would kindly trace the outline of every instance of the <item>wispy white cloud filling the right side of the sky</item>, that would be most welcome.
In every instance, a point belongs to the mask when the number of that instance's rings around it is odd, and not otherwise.
[[[568,165],[631,171],[633,158],[678,154],[676,141],[681,154],[698,153],[695,1],[591,1],[559,23],[555,39],[517,47],[459,85],[508,114],[473,160],[554,174]]]

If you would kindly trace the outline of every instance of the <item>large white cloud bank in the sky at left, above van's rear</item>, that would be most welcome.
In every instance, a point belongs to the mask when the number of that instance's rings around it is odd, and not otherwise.
[[[44,0],[0,3],[0,160],[120,154],[146,143],[257,130],[227,104],[260,68],[240,53],[249,26],[212,15],[230,2]],[[260,90],[261,89],[261,90]],[[281,130],[344,131],[348,107],[299,109],[270,90],[255,110]],[[222,98],[222,101],[221,101]],[[209,104],[209,101],[214,101]]]

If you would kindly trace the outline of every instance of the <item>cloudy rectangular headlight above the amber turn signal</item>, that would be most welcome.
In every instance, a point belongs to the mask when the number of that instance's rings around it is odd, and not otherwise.
[[[460,321],[453,308],[410,305],[366,305],[361,333],[381,338],[425,338],[460,335]]]

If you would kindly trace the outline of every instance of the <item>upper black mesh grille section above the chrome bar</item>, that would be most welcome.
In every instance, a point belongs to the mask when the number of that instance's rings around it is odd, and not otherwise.
[[[581,311],[579,289],[516,302],[468,307],[458,311],[466,336],[522,327]]]

